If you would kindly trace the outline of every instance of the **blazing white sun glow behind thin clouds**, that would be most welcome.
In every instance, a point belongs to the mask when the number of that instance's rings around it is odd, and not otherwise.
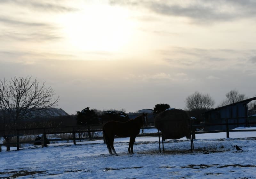
[[[120,51],[131,40],[134,22],[128,11],[91,4],[59,20],[68,45],[80,51]]]

